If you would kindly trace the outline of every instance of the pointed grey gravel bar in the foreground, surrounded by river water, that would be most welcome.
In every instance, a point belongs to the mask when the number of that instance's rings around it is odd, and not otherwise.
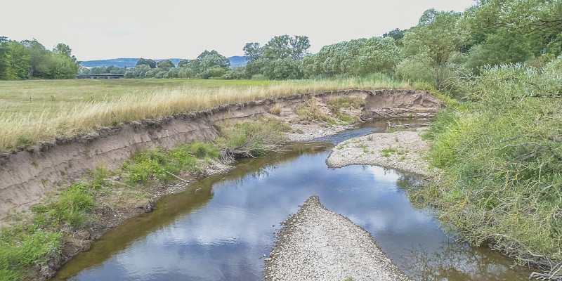
[[[308,198],[266,259],[266,280],[410,280],[366,230]]]

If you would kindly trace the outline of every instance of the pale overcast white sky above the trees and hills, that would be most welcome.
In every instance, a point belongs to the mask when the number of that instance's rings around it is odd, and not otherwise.
[[[0,36],[72,48],[78,60],[242,55],[247,42],[306,35],[322,46],[417,24],[429,8],[464,11],[473,0],[29,0],[4,1]]]

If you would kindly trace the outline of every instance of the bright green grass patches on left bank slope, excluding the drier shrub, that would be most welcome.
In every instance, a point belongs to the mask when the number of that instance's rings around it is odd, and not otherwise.
[[[142,190],[151,176],[169,182],[174,178],[166,171],[175,174],[200,169],[201,162],[217,157],[216,144],[196,141],[170,150],[141,149],[124,164],[122,171],[108,171],[105,165],[89,171],[84,181],[32,207],[32,215],[23,218],[23,222],[1,229],[0,281],[26,280],[34,276],[36,264],[46,263],[60,254],[63,235],[89,226],[96,219],[96,209],[103,208],[96,204],[95,193],[120,188],[117,194],[132,190],[137,196],[146,197]],[[110,176],[115,174],[122,175],[127,184],[116,186],[110,181]]]

